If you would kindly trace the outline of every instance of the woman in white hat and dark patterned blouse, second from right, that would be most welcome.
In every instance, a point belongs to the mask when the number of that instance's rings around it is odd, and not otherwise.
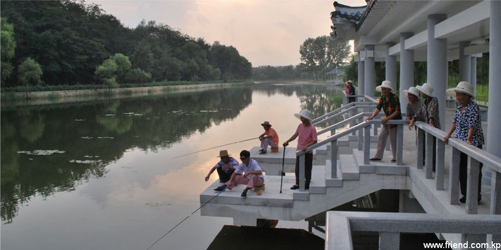
[[[424,103],[421,108],[414,115],[409,123],[409,128],[414,125],[414,121],[423,120],[424,122],[430,124],[440,129],[440,118],[438,117],[438,98],[433,97],[433,87],[430,83],[424,83],[422,86],[416,86],[419,91],[421,91],[421,97],[424,99]],[[436,166],[436,140],[433,138],[433,171],[435,171]]]

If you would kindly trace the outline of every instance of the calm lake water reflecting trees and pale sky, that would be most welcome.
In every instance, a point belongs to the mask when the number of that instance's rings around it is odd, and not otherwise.
[[[219,149],[238,156],[259,140],[173,157],[257,137],[265,120],[282,144],[294,113],[316,117],[341,100],[323,84],[275,82],[3,107],[1,248],[146,249],[200,206]],[[232,219],[197,212],[151,249],[205,249],[224,224]]]

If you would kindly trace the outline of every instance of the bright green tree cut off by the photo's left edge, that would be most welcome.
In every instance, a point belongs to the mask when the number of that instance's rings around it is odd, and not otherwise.
[[[2,43],[0,48],[1,58],[1,73],[2,74],[2,85],[6,84],[6,80],[11,76],[14,67],[11,64],[11,60],[14,57],[14,52],[16,50],[16,41],[14,40],[14,25],[7,22],[7,18],[2,17],[0,19],[0,39]]]

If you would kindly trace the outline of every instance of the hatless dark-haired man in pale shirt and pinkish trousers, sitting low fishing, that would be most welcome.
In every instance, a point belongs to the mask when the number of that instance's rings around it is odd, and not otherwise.
[[[240,152],[240,160],[242,161],[235,169],[229,181],[226,184],[217,187],[216,191],[222,191],[225,187],[232,189],[233,186],[237,184],[246,184],[247,187],[243,189],[242,198],[247,197],[247,191],[255,187],[262,187],[265,183],[265,175],[261,167],[258,165],[258,161],[250,158],[250,152],[247,150],[242,150]]]

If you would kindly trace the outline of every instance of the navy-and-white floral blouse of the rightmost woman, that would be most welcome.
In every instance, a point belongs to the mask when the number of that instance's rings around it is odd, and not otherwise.
[[[468,130],[470,127],[473,127],[471,143],[477,147],[483,145],[483,131],[479,113],[480,108],[478,108],[478,105],[474,101],[470,101],[468,105],[466,105],[463,113],[461,113],[462,107],[463,105],[461,104],[457,105],[454,120],[452,121],[456,124],[456,137],[466,141],[468,138]]]

